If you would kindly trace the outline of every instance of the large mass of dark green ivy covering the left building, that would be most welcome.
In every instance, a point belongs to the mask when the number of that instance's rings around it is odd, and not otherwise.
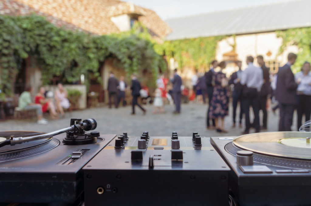
[[[99,65],[112,57],[128,76],[143,69],[157,71],[163,60],[147,38],[133,32],[119,35],[94,36],[58,28],[44,17],[0,15],[1,87],[12,91],[20,67],[18,60],[29,55],[37,58],[44,84],[53,76],[67,82],[91,73],[100,82]]]

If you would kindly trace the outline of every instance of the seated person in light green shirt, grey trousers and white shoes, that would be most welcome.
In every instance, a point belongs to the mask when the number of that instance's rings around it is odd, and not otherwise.
[[[47,124],[48,121],[42,117],[42,106],[40,104],[35,104],[31,102],[31,92],[33,88],[30,85],[27,85],[25,91],[21,93],[21,96],[18,99],[18,107],[24,110],[37,110],[38,124]]]

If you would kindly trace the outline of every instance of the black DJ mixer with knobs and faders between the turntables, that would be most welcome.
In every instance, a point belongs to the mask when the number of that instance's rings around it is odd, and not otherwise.
[[[115,137],[86,166],[85,205],[228,205],[229,167],[209,137]]]

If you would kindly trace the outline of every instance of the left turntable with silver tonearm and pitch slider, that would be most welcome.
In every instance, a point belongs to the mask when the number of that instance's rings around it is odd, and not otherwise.
[[[71,119],[48,134],[0,131],[0,203],[79,205],[81,168],[115,136],[86,133],[96,126],[94,119]]]

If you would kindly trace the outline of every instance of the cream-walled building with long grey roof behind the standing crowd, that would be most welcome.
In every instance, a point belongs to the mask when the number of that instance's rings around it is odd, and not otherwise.
[[[228,63],[225,69],[228,76],[238,69],[233,60],[241,60],[244,69],[249,55],[262,55],[271,73],[275,73],[286,63],[289,52],[298,52],[291,45],[280,53],[282,39],[276,31],[310,27],[310,8],[310,0],[298,0],[168,19],[166,22],[173,31],[166,40],[225,36],[217,44],[215,59]],[[184,73],[188,74],[184,78],[193,75]]]

